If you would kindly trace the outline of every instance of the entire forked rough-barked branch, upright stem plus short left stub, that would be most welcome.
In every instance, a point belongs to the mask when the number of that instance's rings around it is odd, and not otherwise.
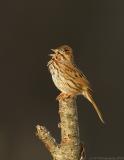
[[[37,136],[45,144],[54,160],[80,160],[83,157],[81,157],[76,97],[59,100],[59,115],[60,144],[56,143],[43,126],[37,125]]]

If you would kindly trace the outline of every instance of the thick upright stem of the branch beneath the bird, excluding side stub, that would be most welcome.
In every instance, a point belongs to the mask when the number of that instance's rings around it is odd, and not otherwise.
[[[61,148],[64,159],[79,160],[80,139],[76,97],[59,101]]]

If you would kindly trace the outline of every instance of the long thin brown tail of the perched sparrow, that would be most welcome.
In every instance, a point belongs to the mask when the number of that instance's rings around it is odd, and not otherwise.
[[[101,122],[105,123],[104,120],[103,120],[103,117],[102,117],[102,114],[101,114],[100,110],[98,109],[95,101],[92,98],[92,95],[90,94],[90,91],[89,90],[84,90],[83,91],[83,96],[91,102],[91,104],[93,105],[95,111],[97,112]]]

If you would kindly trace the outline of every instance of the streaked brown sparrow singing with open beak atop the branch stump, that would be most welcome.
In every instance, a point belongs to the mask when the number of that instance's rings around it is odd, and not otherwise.
[[[83,95],[92,103],[100,120],[104,123],[101,112],[92,98],[89,81],[74,64],[72,48],[62,45],[51,50],[53,54],[50,54],[52,58],[47,66],[55,86],[61,91],[57,99]]]

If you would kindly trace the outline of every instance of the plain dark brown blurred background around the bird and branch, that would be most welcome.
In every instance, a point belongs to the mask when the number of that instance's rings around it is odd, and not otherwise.
[[[48,160],[35,137],[44,124],[60,140],[59,91],[47,70],[51,48],[69,44],[106,121],[78,98],[88,157],[124,156],[124,1],[0,1],[0,159]]]

